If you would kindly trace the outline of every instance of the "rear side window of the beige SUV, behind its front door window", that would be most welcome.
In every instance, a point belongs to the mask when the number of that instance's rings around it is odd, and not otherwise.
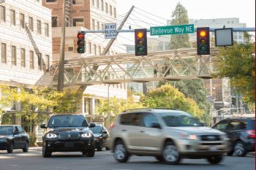
[[[121,125],[138,125],[142,126],[141,123],[142,114],[141,113],[127,113],[121,115]]]

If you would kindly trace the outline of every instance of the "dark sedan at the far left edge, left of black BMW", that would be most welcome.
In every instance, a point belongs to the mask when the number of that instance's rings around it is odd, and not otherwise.
[[[29,151],[29,135],[20,125],[0,125],[0,150],[12,153],[16,149]]]

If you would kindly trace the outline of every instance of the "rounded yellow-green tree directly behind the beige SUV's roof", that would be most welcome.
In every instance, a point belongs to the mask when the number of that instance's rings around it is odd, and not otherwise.
[[[185,97],[172,85],[162,85],[160,88],[151,90],[140,101],[145,107],[180,109],[200,119],[204,115],[203,110],[198,107],[192,98]]]

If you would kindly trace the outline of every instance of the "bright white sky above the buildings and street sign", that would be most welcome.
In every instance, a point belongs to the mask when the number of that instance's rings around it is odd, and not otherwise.
[[[135,6],[131,18],[127,20],[126,28],[131,25],[136,26],[163,26],[166,22],[163,19],[169,19],[171,13],[180,2],[188,12],[189,19],[213,19],[213,18],[239,18],[240,23],[246,23],[246,27],[255,27],[255,0],[116,0],[117,1],[117,17],[127,13],[132,5]],[[143,9],[143,11],[140,11]],[[146,13],[148,12],[148,13]],[[140,14],[141,15],[140,15]],[[152,14],[152,15],[151,15]],[[145,15],[147,18],[143,18]],[[155,17],[154,15],[158,16]],[[118,19],[119,19],[118,18]],[[149,19],[151,18],[151,20]],[[135,19],[135,20],[134,20]],[[143,25],[139,19],[148,22]],[[121,19],[119,19],[120,21]],[[166,24],[166,23],[165,23]],[[131,41],[129,43],[131,44]]]

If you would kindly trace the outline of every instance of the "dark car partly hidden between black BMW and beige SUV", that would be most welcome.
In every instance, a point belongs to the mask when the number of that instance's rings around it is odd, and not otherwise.
[[[107,140],[109,139],[110,135],[107,128],[105,128],[104,125],[95,123],[95,127],[90,128],[90,130],[94,133],[94,148],[98,151],[102,151],[103,147],[105,147],[106,150],[109,150]]]

